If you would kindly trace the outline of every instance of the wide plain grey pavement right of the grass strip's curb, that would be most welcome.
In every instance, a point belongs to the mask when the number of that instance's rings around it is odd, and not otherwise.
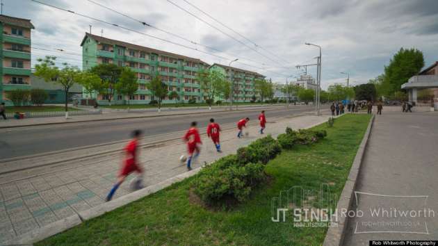
[[[359,193],[357,206],[353,201],[350,210],[364,211],[364,216],[350,218],[344,245],[368,245],[369,240],[437,240],[437,121],[436,112],[383,111],[376,115],[356,189],[371,194]],[[430,208],[435,217],[429,213],[426,218],[418,213],[412,218],[372,216],[370,208],[422,212]]]

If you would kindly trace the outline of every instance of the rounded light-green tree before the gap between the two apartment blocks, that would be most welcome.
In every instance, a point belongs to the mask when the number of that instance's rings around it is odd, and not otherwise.
[[[216,70],[202,69],[197,73],[197,81],[201,83],[201,90],[206,95],[206,102],[211,110],[214,98],[222,94],[221,88],[224,87],[225,76]]]

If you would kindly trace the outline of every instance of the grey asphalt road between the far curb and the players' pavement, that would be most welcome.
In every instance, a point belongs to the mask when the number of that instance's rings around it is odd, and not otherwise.
[[[284,117],[313,110],[311,106],[294,106],[284,109],[266,109],[266,117]],[[199,115],[175,115],[139,119],[107,120],[101,122],[79,122],[51,126],[33,126],[22,129],[0,130],[0,156],[13,158],[73,147],[97,145],[117,140],[126,140],[134,129],[142,129],[147,136],[172,133],[188,129],[190,122],[197,121],[206,127],[214,117],[219,124],[237,122],[243,117],[257,121],[259,110],[222,113],[200,113]]]

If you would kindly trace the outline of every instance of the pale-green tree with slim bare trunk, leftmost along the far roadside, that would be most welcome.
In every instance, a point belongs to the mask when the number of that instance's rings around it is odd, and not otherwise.
[[[35,76],[44,81],[56,83],[63,87],[65,93],[65,118],[68,117],[68,92],[76,83],[76,79],[81,76],[81,70],[78,67],[63,63],[64,67],[59,69],[55,65],[56,56],[46,56],[44,59],[38,58],[38,64],[35,65]]]

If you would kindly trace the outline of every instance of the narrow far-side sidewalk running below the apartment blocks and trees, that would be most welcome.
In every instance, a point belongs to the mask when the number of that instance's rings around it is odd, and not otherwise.
[[[298,107],[297,106],[289,106],[289,107]],[[238,106],[237,110],[259,110],[261,108],[286,108],[286,106]],[[19,127],[19,126],[38,126],[44,124],[63,124],[63,123],[74,123],[74,122],[91,122],[91,121],[100,121],[100,120],[120,120],[120,119],[129,119],[129,118],[141,118],[141,117],[160,117],[167,115],[187,115],[187,114],[195,114],[195,113],[214,113],[214,112],[224,112],[228,111],[229,108],[211,108],[209,110],[206,108],[181,108],[178,110],[169,110],[163,108],[161,113],[158,113],[155,110],[131,110],[129,112],[110,112],[103,113],[101,115],[81,115],[81,116],[72,116],[69,119],[65,119],[65,117],[40,117],[40,118],[28,118],[23,120],[0,120],[0,129],[1,128],[10,128],[10,127]],[[236,110],[234,108],[233,110]]]

